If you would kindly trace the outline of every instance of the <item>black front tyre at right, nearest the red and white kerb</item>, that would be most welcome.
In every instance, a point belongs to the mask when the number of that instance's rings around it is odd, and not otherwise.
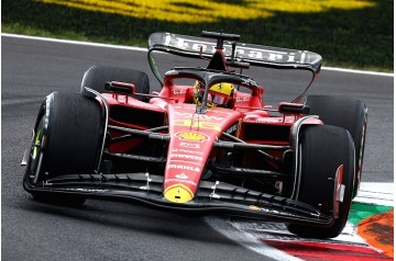
[[[321,214],[333,216],[337,171],[343,167],[343,201],[339,215],[329,227],[288,224],[293,234],[312,238],[333,238],[344,228],[352,202],[354,181],[354,145],[351,135],[336,126],[308,126],[299,143],[300,180],[295,200],[307,203]]]

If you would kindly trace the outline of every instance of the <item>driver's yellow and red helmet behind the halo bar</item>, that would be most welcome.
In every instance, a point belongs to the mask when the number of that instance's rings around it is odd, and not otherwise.
[[[199,81],[195,84],[193,94],[194,103],[201,105],[205,87]],[[217,83],[209,89],[207,106],[227,107],[233,98],[234,86],[228,82]]]

